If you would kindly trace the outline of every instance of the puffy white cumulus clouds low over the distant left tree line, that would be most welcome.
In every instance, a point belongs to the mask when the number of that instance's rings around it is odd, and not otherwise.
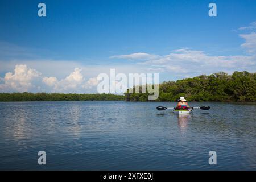
[[[42,73],[27,65],[16,65],[14,73],[8,72],[0,77],[0,92],[60,92],[60,93],[96,93],[97,78],[85,80],[82,69],[75,68],[60,81],[53,76],[42,76]]]

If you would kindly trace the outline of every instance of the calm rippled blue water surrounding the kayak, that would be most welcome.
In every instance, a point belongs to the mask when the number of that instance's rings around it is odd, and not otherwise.
[[[255,170],[256,105],[191,105],[212,109],[179,117],[155,109],[172,102],[0,102],[0,169]]]

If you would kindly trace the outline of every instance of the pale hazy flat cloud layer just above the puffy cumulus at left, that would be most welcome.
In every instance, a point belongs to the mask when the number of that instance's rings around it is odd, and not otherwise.
[[[81,73],[86,78],[97,77],[100,73],[109,73],[111,68],[115,68],[116,72],[134,73],[145,72],[146,68],[138,67],[134,64],[99,64],[99,65],[84,65],[73,60],[0,60],[0,73],[6,73],[13,70],[17,64],[26,64],[27,67],[34,68],[38,72],[43,73],[46,77],[56,77],[57,80],[65,78],[75,68],[80,68]],[[56,71],[57,70],[57,71]]]

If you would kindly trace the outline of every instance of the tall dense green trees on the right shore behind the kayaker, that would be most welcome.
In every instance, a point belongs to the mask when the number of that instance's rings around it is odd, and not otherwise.
[[[148,94],[126,93],[127,101],[148,101]],[[176,101],[184,96],[188,101],[256,101],[256,73],[234,72],[201,75],[159,84],[155,101]]]

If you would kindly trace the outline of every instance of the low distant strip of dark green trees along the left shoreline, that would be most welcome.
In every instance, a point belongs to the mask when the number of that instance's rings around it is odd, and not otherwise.
[[[124,96],[114,94],[63,94],[63,93],[0,93],[0,101],[119,101]]]

